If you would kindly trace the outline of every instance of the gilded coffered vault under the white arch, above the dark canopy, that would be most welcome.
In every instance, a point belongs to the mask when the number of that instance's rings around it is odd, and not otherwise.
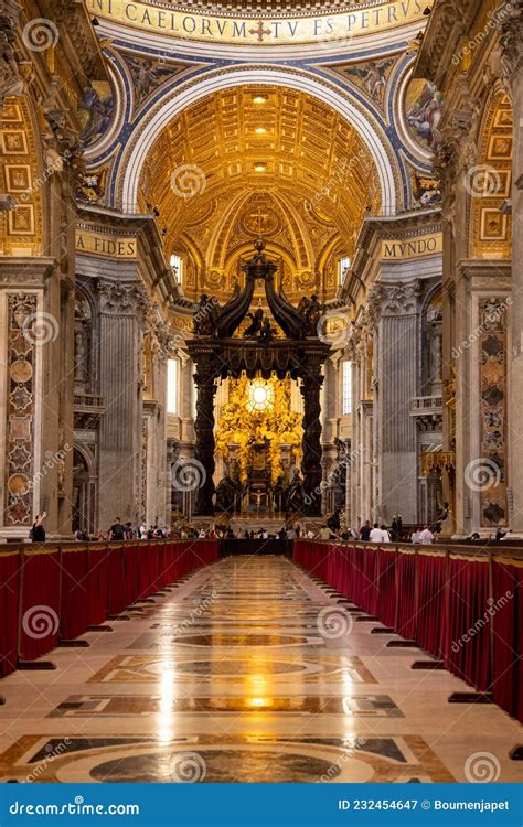
[[[190,253],[188,294],[226,294],[260,232],[291,296],[335,292],[333,255],[351,255],[362,217],[380,207],[360,136],[300,92],[242,87],[185,109],[159,135],[140,182],[167,256]]]

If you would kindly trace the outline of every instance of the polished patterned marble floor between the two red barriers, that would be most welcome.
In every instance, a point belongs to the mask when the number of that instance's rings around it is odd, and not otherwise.
[[[223,560],[109,625],[0,681],[2,781],[521,780],[516,721],[449,704],[465,684],[287,559]]]

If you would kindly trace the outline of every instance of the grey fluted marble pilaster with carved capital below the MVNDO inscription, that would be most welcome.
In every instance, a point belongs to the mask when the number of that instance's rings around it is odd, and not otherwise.
[[[410,417],[417,393],[418,284],[380,284],[377,329],[377,518],[395,514],[416,522],[416,425]]]

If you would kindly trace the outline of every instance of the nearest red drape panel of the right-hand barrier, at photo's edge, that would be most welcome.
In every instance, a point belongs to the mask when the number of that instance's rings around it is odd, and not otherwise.
[[[494,701],[523,720],[523,563],[492,562]]]

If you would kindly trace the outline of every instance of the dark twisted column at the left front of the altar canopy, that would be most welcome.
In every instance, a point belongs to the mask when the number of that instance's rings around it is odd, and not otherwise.
[[[209,517],[214,515],[215,494],[214,472],[214,397],[216,395],[215,366],[212,356],[201,355],[194,373],[198,389],[196,421],[194,429],[196,442],[194,445],[194,483],[195,507],[194,516]]]

